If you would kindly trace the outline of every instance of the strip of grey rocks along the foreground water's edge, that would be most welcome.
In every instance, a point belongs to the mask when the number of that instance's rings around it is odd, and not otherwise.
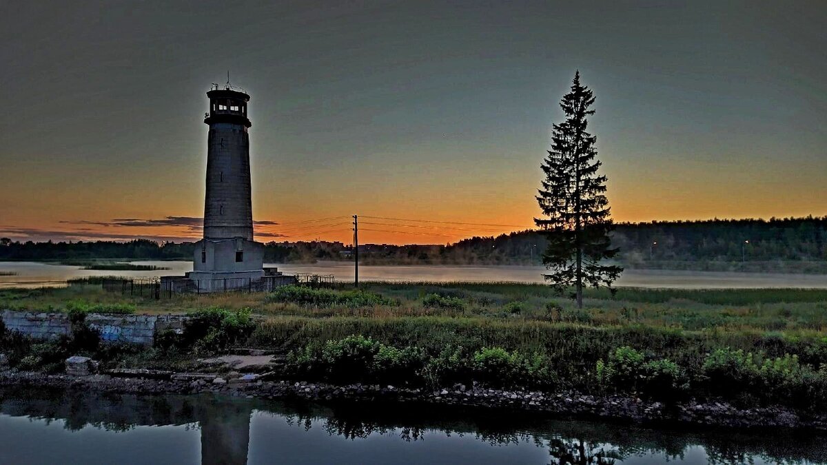
[[[252,376],[249,379],[227,381],[214,374],[158,376],[157,373],[137,371],[129,373],[128,376],[127,373],[117,376],[69,376],[7,370],[0,372],[0,387],[49,387],[141,395],[212,392],[262,399],[426,402],[437,405],[533,411],[566,418],[613,419],[638,424],[694,424],[729,428],[827,431],[827,415],[806,414],[780,406],[739,409],[723,401],[692,400],[679,405],[664,405],[661,402],[622,395],[596,396],[576,392],[549,394],[539,391],[495,390],[476,385],[457,385],[430,391],[395,386],[334,386],[306,381],[263,379]]]

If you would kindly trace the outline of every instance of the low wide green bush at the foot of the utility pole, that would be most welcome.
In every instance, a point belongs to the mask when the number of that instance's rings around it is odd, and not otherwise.
[[[382,295],[366,290],[337,291],[313,289],[302,285],[283,285],[276,288],[267,299],[270,302],[291,302],[315,307],[373,307],[396,304]]]

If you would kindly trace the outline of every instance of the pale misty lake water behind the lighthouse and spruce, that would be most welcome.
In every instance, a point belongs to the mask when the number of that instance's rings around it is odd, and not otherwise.
[[[192,271],[191,261],[131,261],[136,265],[170,268],[162,271],[99,271],[79,266],[49,265],[32,261],[0,261],[0,288],[65,285],[71,278],[84,276],[151,277],[183,275]],[[288,273],[304,272],[333,275],[337,280],[353,280],[353,264],[322,261],[315,264],[271,263]],[[361,280],[398,281],[519,281],[543,282],[543,266],[360,266]],[[14,273],[2,276],[4,272]],[[669,287],[681,289],[820,288],[827,289],[827,276],[782,273],[739,273],[728,271],[627,270],[619,286]]]

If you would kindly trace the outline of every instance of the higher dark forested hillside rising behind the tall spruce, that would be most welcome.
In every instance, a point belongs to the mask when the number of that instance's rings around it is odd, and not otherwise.
[[[723,271],[723,264],[762,271],[778,261],[816,262],[809,268],[783,271],[825,270],[825,240],[827,217],[619,223],[612,233],[613,246],[620,248],[619,260],[627,266],[716,271]],[[544,244],[538,232],[524,231],[471,237],[444,249],[458,262],[519,263],[539,261]],[[754,266],[757,263],[762,265]]]

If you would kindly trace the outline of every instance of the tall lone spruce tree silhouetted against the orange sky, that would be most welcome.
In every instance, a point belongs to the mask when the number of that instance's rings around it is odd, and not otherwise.
[[[591,90],[574,75],[571,92],[560,100],[566,120],[552,127],[552,150],[543,161],[545,179],[537,201],[546,218],[534,218],[547,237],[543,265],[550,274],[547,282],[560,294],[574,288],[571,299],[583,307],[583,286],[611,285],[623,268],[604,265],[619,249],[611,248],[609,232],[614,229],[606,199],[605,175],[598,175],[595,160],[597,137],[586,131],[586,117],[595,114]]]

